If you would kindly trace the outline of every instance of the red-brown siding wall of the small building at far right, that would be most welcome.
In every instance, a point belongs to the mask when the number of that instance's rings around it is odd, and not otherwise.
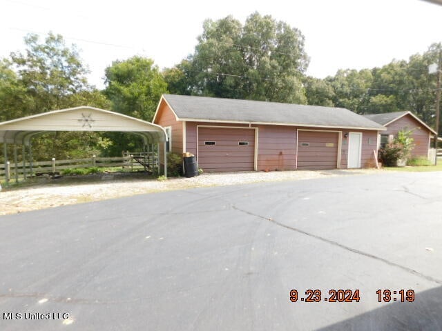
[[[381,134],[392,134],[397,137],[400,130],[413,130],[412,138],[414,139],[414,149],[412,150],[413,157],[427,157],[428,148],[430,147],[430,130],[425,128],[422,123],[416,121],[410,114],[393,121],[388,124],[387,130]]]

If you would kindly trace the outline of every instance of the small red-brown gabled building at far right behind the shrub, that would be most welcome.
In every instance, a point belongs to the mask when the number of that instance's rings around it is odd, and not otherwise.
[[[388,143],[393,141],[399,131],[411,130],[411,137],[414,139],[412,157],[430,157],[430,140],[432,134],[436,134],[436,131],[427,126],[412,112],[386,112],[383,114],[367,114],[364,117],[387,128],[387,130],[381,132],[379,137],[380,148],[385,148]]]

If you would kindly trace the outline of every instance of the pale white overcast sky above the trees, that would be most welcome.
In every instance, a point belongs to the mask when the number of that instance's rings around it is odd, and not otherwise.
[[[298,28],[310,57],[307,74],[374,68],[408,59],[442,41],[442,6],[422,0],[0,0],[0,57],[24,49],[23,37],[53,32],[74,43],[89,83],[104,88],[104,70],[134,55],[170,68],[191,54],[206,19],[258,11]]]

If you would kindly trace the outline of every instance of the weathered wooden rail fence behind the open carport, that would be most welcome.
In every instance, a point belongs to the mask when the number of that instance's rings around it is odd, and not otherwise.
[[[56,160],[50,161],[33,161],[32,163],[26,162],[23,165],[23,161],[17,163],[8,162],[0,164],[0,177],[6,180],[35,176],[37,174],[55,173],[60,170],[73,169],[73,168],[111,168],[122,167],[131,168],[140,165],[128,154],[124,157],[90,157],[88,159],[70,159],[70,160]],[[32,173],[31,173],[32,171]]]

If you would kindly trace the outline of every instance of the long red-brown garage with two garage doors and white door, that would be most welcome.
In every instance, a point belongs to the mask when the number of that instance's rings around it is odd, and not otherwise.
[[[206,172],[373,166],[380,124],[344,108],[164,94],[153,123],[167,151]]]

